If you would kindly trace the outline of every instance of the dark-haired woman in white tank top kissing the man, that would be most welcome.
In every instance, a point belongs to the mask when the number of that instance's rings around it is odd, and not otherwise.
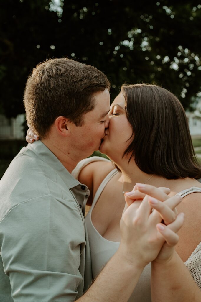
[[[196,284],[200,285],[199,273],[192,267],[199,259],[201,247],[201,184],[195,180],[201,177],[201,169],[194,159],[185,112],[178,99],[166,89],[136,84],[121,87],[109,117],[109,128],[100,151],[106,153],[117,168],[114,169],[110,161],[92,158],[81,161],[73,171],[91,191],[88,204],[92,207],[86,223],[94,277],[119,247],[119,224],[125,206],[123,193],[138,183],[136,191],[126,194],[129,203],[129,199],[139,198],[139,191],[146,194],[148,185],[168,187],[170,196],[179,194],[183,198],[177,208],[185,213],[184,226],[179,231],[180,242],[176,246],[180,258],[174,253],[170,262],[163,263],[160,256],[152,262],[152,300],[160,301],[161,297],[163,301],[192,300],[193,291],[197,294]],[[154,207],[157,201],[152,199],[152,202]],[[183,276],[189,278],[180,259],[186,262],[196,284],[193,281],[178,283]],[[150,279],[149,264],[129,301],[151,301]],[[177,285],[172,290],[174,284]]]

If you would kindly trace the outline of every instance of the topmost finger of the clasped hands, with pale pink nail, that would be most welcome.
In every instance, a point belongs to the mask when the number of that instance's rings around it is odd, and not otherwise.
[[[156,188],[152,185],[136,183],[136,186],[140,192],[150,195],[160,201],[164,201],[169,198],[168,194],[164,193],[163,190],[161,190],[160,188]],[[170,193],[170,189],[169,189],[169,193]]]

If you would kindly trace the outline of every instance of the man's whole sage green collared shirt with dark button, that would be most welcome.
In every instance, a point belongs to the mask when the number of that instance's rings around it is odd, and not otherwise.
[[[91,282],[88,188],[41,142],[0,181],[0,301],[75,301]]]

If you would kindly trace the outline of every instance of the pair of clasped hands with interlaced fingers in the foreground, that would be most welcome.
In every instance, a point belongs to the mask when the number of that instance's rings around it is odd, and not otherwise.
[[[134,252],[142,263],[148,264],[153,260],[168,261],[179,240],[176,233],[183,225],[183,213],[177,215],[173,211],[182,198],[178,195],[170,198],[168,196],[170,190],[167,188],[143,185],[143,188],[135,187],[135,189],[135,192],[129,196],[125,194],[128,205],[120,222],[122,226],[124,223],[135,226],[129,239],[130,254],[132,254],[132,243],[136,242]],[[143,201],[139,200],[139,197],[144,197]],[[133,199],[136,201],[133,202]],[[167,226],[161,223],[162,220]],[[126,236],[126,233],[122,232],[122,239],[128,240]]]

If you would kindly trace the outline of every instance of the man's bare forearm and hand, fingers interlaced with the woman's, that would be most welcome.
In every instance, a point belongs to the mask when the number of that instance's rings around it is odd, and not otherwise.
[[[156,189],[155,194],[159,199],[167,198],[167,195],[159,189]],[[180,201],[181,199],[177,196],[170,198],[169,204],[167,204],[170,206],[178,204]],[[162,236],[159,236],[160,234],[156,229],[159,217],[156,218],[154,212],[150,214],[151,208],[148,204],[148,196],[145,196],[140,206],[138,202],[134,202],[124,211],[120,223],[120,248],[107,263],[91,288],[78,301],[124,302],[129,299],[143,268],[151,259],[156,258],[164,243],[161,240]],[[170,208],[164,203],[161,203],[159,212],[164,220],[174,215],[174,212],[170,211]],[[183,224],[183,216],[178,215],[173,223],[172,229],[179,230]],[[173,223],[170,223],[169,226]],[[167,238],[171,240],[172,237],[175,241],[175,233],[168,232]],[[176,243],[177,240],[174,244]]]

